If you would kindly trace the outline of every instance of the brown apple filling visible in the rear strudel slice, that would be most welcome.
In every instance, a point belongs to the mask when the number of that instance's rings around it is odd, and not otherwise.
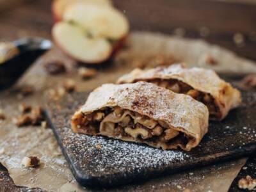
[[[212,117],[218,118],[221,115],[220,109],[218,108],[218,104],[216,104],[216,101],[214,100],[212,95],[210,95],[209,93],[204,93],[204,92],[195,90],[188,84],[183,83],[182,81],[179,81],[176,79],[170,79],[170,80],[154,79],[148,82],[167,88],[168,90],[171,90],[172,92],[175,92],[175,93],[183,93],[183,94],[189,95],[193,97],[193,99],[196,99],[204,103],[209,110],[210,116]]]

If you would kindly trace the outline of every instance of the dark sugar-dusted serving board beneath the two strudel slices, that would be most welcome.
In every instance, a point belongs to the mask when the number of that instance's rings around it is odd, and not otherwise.
[[[52,130],[82,186],[113,187],[256,152],[256,92],[243,92],[243,104],[222,122],[210,122],[209,132],[190,152],[74,134],[70,117],[88,94],[73,93],[46,107]]]

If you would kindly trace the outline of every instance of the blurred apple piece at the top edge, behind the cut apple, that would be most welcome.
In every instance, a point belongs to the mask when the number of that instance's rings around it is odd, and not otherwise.
[[[111,1],[109,0],[54,0],[52,2],[52,15],[54,21],[58,22],[62,20],[66,8],[74,3],[93,3],[98,6],[111,6]]]

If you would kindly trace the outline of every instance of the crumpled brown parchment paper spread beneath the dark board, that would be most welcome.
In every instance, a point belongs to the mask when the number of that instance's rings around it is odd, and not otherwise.
[[[115,58],[113,65],[100,70],[99,74],[88,81],[83,81],[74,72],[74,61],[68,59],[57,49],[47,52],[36,61],[28,72],[20,79],[17,86],[31,84],[35,93],[22,100],[17,99],[15,88],[0,93],[0,108],[4,109],[7,119],[0,123],[0,162],[8,168],[16,185],[40,187],[48,191],[74,191],[77,188],[68,165],[60,152],[51,129],[40,127],[17,128],[13,116],[19,115],[18,105],[26,102],[33,106],[42,105],[45,91],[60,86],[64,79],[72,78],[77,83],[77,91],[92,90],[102,83],[115,82],[117,77],[132,70],[131,62],[136,59],[154,54],[172,54],[179,60],[194,66],[200,60],[200,66],[214,68],[218,72],[256,72],[256,65],[252,61],[237,57],[230,51],[202,42],[201,40],[184,40],[166,35],[134,32],[127,39],[127,45]],[[210,54],[218,60],[218,65],[208,65],[202,62],[202,57]],[[59,76],[49,76],[45,73],[44,63],[61,60],[68,65],[68,72]],[[20,161],[24,156],[38,156],[42,164],[38,168],[24,168]],[[184,188],[193,191],[227,191],[234,177],[236,177],[245,159],[232,163],[218,164],[196,171],[189,171],[171,175],[144,184],[125,186],[116,191],[182,191]],[[201,175],[201,176],[198,176]],[[83,189],[85,190],[85,189]],[[87,189],[88,190],[88,189]]]

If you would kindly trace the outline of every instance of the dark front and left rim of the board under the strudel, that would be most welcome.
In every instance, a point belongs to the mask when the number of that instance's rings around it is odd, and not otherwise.
[[[245,145],[244,147],[240,149],[234,149],[229,152],[221,152],[219,154],[215,154],[214,156],[210,156],[209,161],[205,162],[205,159],[202,159],[200,157],[195,159],[191,159],[191,162],[189,162],[186,166],[182,165],[177,166],[177,168],[173,169],[168,166],[160,169],[160,170],[142,170],[140,173],[137,173],[136,176],[134,176],[134,172],[127,173],[127,175],[124,178],[124,175],[122,174],[116,174],[113,175],[112,179],[106,179],[104,177],[93,177],[89,174],[81,174],[76,171],[76,168],[74,167],[74,164],[72,163],[72,158],[68,156],[67,152],[65,151],[65,148],[63,147],[62,140],[60,138],[60,134],[58,133],[57,129],[54,127],[54,125],[51,122],[51,118],[49,115],[49,112],[45,111],[45,116],[47,118],[47,122],[49,123],[49,126],[51,127],[52,131],[54,132],[54,136],[56,137],[58,144],[61,147],[61,151],[63,152],[65,159],[68,162],[68,165],[70,167],[70,170],[72,174],[74,175],[75,179],[81,186],[89,187],[89,188],[113,188],[116,186],[121,186],[124,184],[131,184],[131,183],[138,183],[143,182],[145,180],[154,179],[156,177],[163,177],[164,175],[170,175],[177,172],[182,172],[184,170],[189,170],[196,168],[198,166],[208,166],[215,163],[221,163],[225,161],[230,161],[234,159],[239,159],[241,157],[248,157],[256,152],[256,143],[253,145]],[[244,150],[245,149],[245,150]],[[136,182],[134,182],[136,181]]]

